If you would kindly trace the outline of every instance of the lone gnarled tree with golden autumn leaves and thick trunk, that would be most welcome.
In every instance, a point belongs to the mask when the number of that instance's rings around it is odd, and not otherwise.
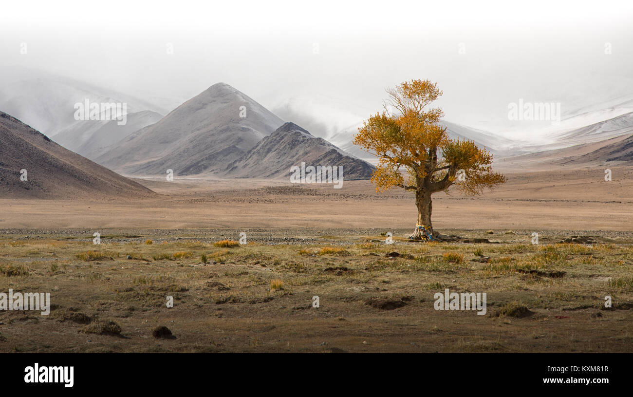
[[[431,194],[453,184],[466,194],[480,194],[505,182],[505,177],[492,172],[492,154],[485,148],[448,137],[446,128],[439,125],[444,115],[441,109],[427,109],[442,95],[437,83],[411,80],[387,89],[387,94],[384,111],[363,122],[354,144],[379,158],[372,174],[377,191],[398,186],[415,192],[418,222],[409,238],[436,239],[439,233],[431,223]]]

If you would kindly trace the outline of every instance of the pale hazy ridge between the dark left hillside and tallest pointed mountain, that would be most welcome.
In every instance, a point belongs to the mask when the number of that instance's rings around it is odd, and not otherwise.
[[[117,120],[83,120],[55,135],[53,140],[66,149],[92,160],[108,146],[147,125],[158,122],[162,117],[163,115],[155,111],[144,110],[128,113],[124,125],[118,125]]]

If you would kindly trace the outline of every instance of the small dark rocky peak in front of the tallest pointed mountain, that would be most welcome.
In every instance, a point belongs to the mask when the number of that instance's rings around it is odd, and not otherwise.
[[[223,175],[238,178],[289,178],[291,167],[343,167],[343,179],[369,179],[373,167],[317,138],[294,123],[285,123],[244,156],[229,164]]]

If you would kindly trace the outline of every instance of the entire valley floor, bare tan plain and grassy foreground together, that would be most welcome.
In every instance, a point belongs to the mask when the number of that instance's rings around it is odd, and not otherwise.
[[[434,197],[437,230],[491,243],[410,243],[413,198],[366,181],[142,180],[161,196],[0,199],[0,292],[53,304],[1,311],[0,351],[630,352],[631,171],[509,174],[483,196]],[[215,244],[242,232],[246,245]],[[447,288],[486,293],[486,315],[435,310]]]

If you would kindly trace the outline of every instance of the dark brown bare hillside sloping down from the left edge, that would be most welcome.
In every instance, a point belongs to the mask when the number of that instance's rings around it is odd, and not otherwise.
[[[154,192],[0,111],[0,198],[148,197]],[[22,169],[27,180],[20,180]]]

